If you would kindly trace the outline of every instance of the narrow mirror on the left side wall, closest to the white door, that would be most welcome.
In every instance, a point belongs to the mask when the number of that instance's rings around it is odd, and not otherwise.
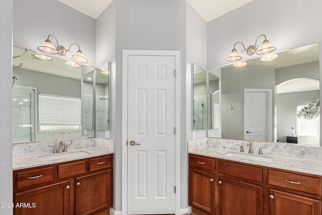
[[[105,138],[106,131],[110,130],[110,62],[99,66],[95,72],[96,136]]]

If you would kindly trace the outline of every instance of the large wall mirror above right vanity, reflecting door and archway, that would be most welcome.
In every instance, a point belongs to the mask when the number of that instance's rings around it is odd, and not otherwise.
[[[243,67],[216,68],[221,70],[221,135],[319,146],[319,43],[276,54],[271,61],[265,58],[274,55],[247,60]]]

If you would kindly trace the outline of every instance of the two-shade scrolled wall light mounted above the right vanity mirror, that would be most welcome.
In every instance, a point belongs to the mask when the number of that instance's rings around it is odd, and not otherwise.
[[[259,47],[257,45],[257,40],[261,36],[264,36],[265,39],[264,39],[263,44],[261,45],[261,47]],[[242,42],[236,42],[233,45],[233,49],[231,50],[230,54],[226,58],[227,61],[237,61],[237,60],[240,60],[241,58],[243,58],[243,57],[240,56],[240,54],[235,49],[235,46],[238,43],[242,44],[243,47],[244,47],[244,49],[242,49],[240,51],[243,52],[243,53],[246,52],[247,55],[253,55],[255,53],[256,54],[267,54],[267,53],[270,53],[270,52],[272,52],[272,51],[274,51],[276,49],[276,47],[274,47],[271,43],[269,43],[269,41],[266,39],[266,36],[264,34],[261,34],[260,36],[257,37],[257,39],[255,41],[255,45],[250,45],[248,48],[245,48],[244,43],[242,43]]]

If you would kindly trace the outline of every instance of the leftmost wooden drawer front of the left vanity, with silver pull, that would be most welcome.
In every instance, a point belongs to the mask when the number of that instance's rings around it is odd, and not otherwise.
[[[16,189],[54,180],[54,167],[27,170],[16,173]]]

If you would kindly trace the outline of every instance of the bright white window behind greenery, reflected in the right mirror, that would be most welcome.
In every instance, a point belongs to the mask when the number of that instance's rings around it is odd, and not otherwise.
[[[304,106],[307,105],[297,105],[296,106],[296,114],[300,111]],[[317,136],[318,135],[318,123],[319,123],[319,115],[314,119],[304,119],[303,117],[296,117],[297,124],[297,136]]]

